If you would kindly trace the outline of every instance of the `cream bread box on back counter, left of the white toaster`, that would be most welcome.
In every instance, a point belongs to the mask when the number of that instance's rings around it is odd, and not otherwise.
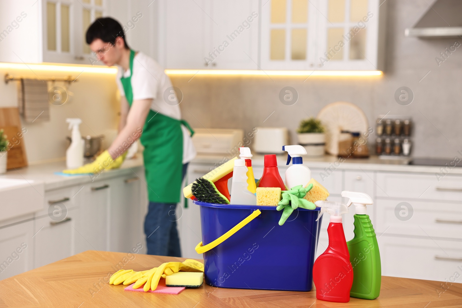
[[[197,154],[239,153],[243,144],[242,129],[194,128],[193,144]]]

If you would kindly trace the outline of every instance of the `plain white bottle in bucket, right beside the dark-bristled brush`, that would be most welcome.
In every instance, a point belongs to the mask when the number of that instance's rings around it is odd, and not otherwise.
[[[231,204],[256,205],[255,195],[247,189],[247,172],[245,159],[234,160],[234,169],[231,184]]]

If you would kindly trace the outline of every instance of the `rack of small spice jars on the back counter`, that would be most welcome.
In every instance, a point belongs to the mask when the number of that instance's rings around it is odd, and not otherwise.
[[[412,119],[402,115],[379,115],[376,121],[376,153],[379,158],[404,158],[411,154]]]

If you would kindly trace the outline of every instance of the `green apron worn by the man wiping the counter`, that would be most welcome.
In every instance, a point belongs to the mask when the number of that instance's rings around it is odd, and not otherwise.
[[[130,50],[130,76],[120,79],[128,104],[133,103],[132,74],[135,51]],[[158,97],[158,99],[161,99]],[[194,131],[184,120],[176,120],[149,110],[141,134],[149,201],[178,203],[182,183],[183,132],[181,125]]]

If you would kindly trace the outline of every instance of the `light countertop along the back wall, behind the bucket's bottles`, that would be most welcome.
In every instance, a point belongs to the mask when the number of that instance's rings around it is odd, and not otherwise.
[[[198,155],[192,162],[193,163],[219,163],[225,162],[232,158],[232,155]],[[263,167],[264,155],[256,154],[252,157],[252,166]],[[412,159],[381,159],[377,156],[369,158],[339,158],[331,155],[324,155],[322,157],[303,157],[304,165],[310,168],[324,169],[328,168],[334,170],[347,170],[347,169],[362,169],[362,170],[376,170],[376,171],[391,171],[391,172],[415,172],[415,173],[441,173],[439,166],[419,166],[408,165],[408,161]],[[277,155],[278,166],[286,165],[287,154]],[[446,172],[450,175],[462,175],[462,168],[448,168]]]

